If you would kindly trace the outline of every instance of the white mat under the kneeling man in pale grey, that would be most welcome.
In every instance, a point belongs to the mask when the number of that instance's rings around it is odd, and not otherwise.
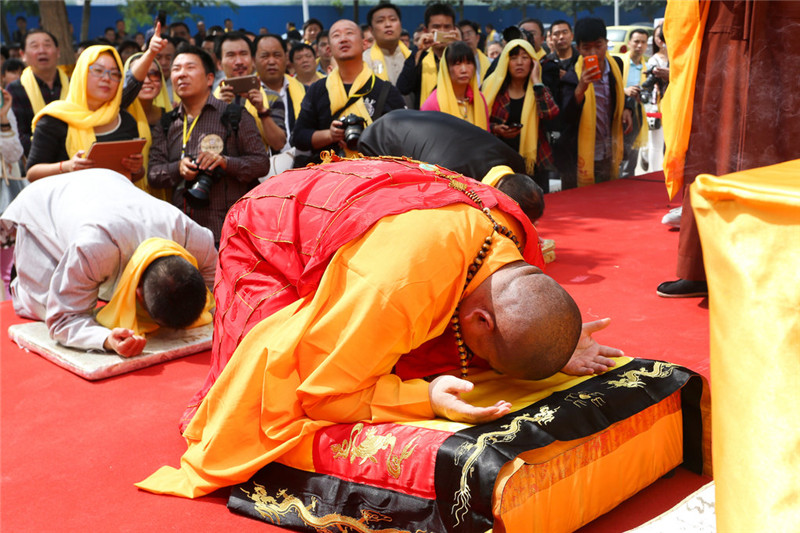
[[[140,355],[125,358],[115,353],[62,346],[50,338],[44,322],[15,324],[8,328],[8,336],[20,348],[37,353],[90,381],[208,350],[211,348],[212,332],[213,324],[192,329],[161,328],[147,335],[147,344]]]

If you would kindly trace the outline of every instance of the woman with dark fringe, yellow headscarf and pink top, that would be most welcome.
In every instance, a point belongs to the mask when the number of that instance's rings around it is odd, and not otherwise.
[[[467,43],[448,45],[439,61],[436,89],[420,110],[448,113],[488,131],[489,111],[478,90],[475,69],[475,55]]]

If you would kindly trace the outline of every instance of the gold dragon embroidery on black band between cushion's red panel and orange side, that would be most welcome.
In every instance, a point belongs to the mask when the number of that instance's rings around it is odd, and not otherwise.
[[[461,523],[461,519],[464,518],[464,515],[466,515],[467,511],[469,510],[470,489],[467,481],[469,476],[472,474],[475,462],[478,460],[478,457],[480,457],[483,451],[492,444],[498,442],[511,442],[514,440],[517,436],[517,433],[519,433],[520,428],[522,427],[522,422],[524,421],[533,422],[534,424],[539,424],[540,426],[549,424],[555,419],[556,411],[558,411],[560,408],[561,407],[556,407],[555,409],[551,409],[549,406],[543,405],[539,408],[539,412],[535,415],[524,413],[520,416],[516,416],[508,424],[500,426],[500,430],[484,433],[478,437],[478,440],[475,441],[475,443],[464,443],[458,447],[455,454],[456,466],[458,466],[461,457],[465,456],[466,454],[469,455],[466,457],[464,465],[461,467],[461,480],[459,482],[459,489],[456,491],[453,497],[455,503],[450,508],[451,514],[456,519],[456,526]]]

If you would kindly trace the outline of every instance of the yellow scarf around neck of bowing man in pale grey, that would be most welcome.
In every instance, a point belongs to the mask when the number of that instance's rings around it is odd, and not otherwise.
[[[175,241],[153,237],[139,244],[133,252],[119,283],[114,288],[114,295],[97,313],[100,325],[113,328],[127,328],[136,335],[150,333],[158,329],[150,315],[136,301],[136,289],[144,271],[154,260],[168,255],[179,255],[197,268],[197,259]],[[211,309],[214,307],[214,296],[206,289],[206,307],[200,317],[189,327],[195,328],[211,322]]]

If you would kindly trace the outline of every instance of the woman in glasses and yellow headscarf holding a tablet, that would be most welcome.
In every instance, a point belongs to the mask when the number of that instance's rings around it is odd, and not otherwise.
[[[151,41],[146,56],[152,61],[163,48],[163,39]],[[135,79],[144,79],[149,63],[136,69]],[[28,157],[28,180],[93,168],[85,158],[95,141],[120,141],[140,137],[142,132],[130,113],[124,111],[136,99],[140,84],[123,90],[122,61],[112,46],[90,46],[78,58],[65,100],[51,102],[33,119],[33,141]],[[141,154],[120,157],[132,180],[144,175]]]

